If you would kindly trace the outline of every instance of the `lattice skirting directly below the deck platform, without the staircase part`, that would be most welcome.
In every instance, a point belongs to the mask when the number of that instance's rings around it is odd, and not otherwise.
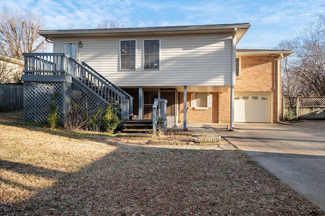
[[[47,123],[50,105],[55,103],[64,125],[71,107],[71,85],[68,82],[24,82],[24,120]]]

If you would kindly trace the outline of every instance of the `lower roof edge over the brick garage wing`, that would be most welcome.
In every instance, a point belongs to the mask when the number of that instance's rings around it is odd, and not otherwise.
[[[236,49],[236,56],[270,56],[270,55],[283,55],[284,57],[293,54],[292,50],[257,50],[257,49]]]

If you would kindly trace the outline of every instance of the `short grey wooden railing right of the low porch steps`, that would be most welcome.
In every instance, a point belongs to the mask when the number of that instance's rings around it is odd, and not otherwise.
[[[162,129],[166,132],[167,129],[167,100],[154,99],[152,105],[152,125],[153,133],[156,134],[157,129]]]

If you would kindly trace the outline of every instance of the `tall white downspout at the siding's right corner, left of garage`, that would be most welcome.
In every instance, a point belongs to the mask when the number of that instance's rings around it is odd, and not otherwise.
[[[237,44],[237,28],[234,28],[233,49],[232,49],[232,86],[230,95],[230,131],[235,130],[235,84],[236,84],[236,44]]]

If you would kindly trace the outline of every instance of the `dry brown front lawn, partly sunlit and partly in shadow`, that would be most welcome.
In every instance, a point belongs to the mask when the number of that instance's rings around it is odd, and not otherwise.
[[[325,215],[242,151],[116,141],[0,113],[0,214]]]

